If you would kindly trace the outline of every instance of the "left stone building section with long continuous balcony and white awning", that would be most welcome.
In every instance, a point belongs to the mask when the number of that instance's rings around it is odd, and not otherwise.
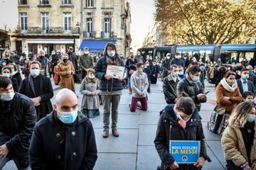
[[[80,45],[79,0],[18,0],[18,28],[11,34],[11,50],[66,52]]]

